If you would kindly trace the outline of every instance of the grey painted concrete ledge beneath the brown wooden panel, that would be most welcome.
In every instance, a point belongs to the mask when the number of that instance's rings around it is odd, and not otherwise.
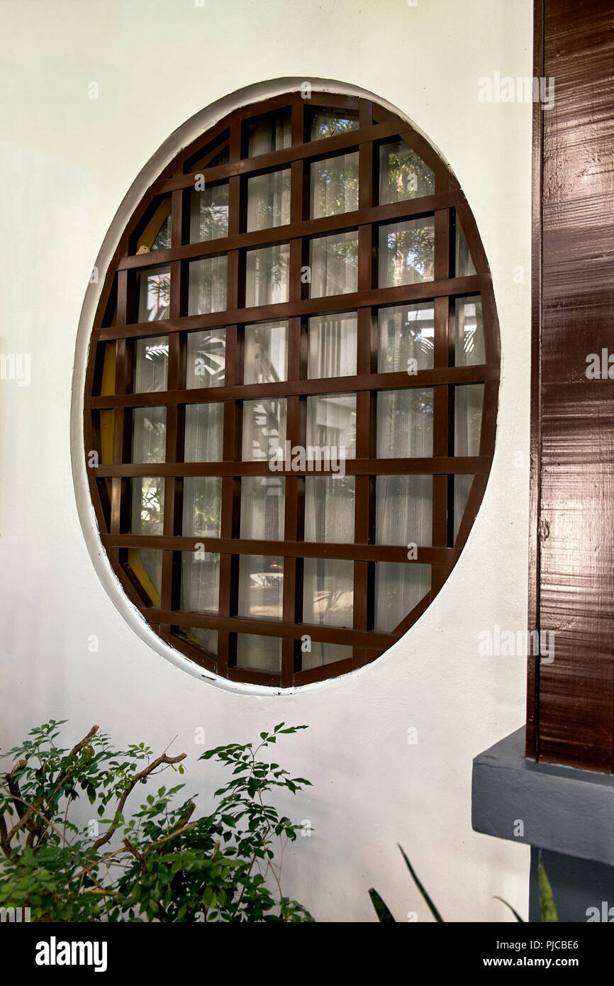
[[[614,777],[524,756],[524,727],[473,761],[476,832],[614,866]]]

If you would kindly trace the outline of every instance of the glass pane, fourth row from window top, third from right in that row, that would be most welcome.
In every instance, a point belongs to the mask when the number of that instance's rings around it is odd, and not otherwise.
[[[307,377],[355,377],[358,316],[356,312],[308,319]]]

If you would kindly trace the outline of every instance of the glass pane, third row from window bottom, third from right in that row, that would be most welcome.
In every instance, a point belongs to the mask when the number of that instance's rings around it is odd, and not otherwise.
[[[354,543],[354,476],[307,476],[305,539]]]

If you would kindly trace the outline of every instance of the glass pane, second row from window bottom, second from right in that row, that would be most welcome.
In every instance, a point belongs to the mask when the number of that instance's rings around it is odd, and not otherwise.
[[[353,562],[327,558],[305,559],[303,617],[306,623],[352,626]]]

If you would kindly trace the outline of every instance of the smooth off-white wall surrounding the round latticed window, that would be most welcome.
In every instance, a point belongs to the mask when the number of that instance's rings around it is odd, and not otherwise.
[[[50,717],[70,740],[94,722],[118,743],[176,736],[206,799],[196,728],[214,745],[306,723],[276,752],[313,784],[285,806],[314,833],[287,852],[284,888],[317,920],[374,920],[374,884],[398,920],[429,920],[396,842],[449,920],[508,920],[496,893],[525,913],[528,850],[473,833],[470,793],[472,757],[524,721],[524,660],[479,657],[477,635],[525,627],[531,106],[477,93],[496,71],[530,75],[530,0],[23,0],[0,22],[0,352],[32,359],[29,387],[0,381],[0,744]],[[176,667],[120,613],[84,536],[70,430],[88,278],[131,185],[193,114],[284,77],[374,93],[449,162],[493,272],[503,383],[488,490],[443,592],[374,665],[279,695]]]

